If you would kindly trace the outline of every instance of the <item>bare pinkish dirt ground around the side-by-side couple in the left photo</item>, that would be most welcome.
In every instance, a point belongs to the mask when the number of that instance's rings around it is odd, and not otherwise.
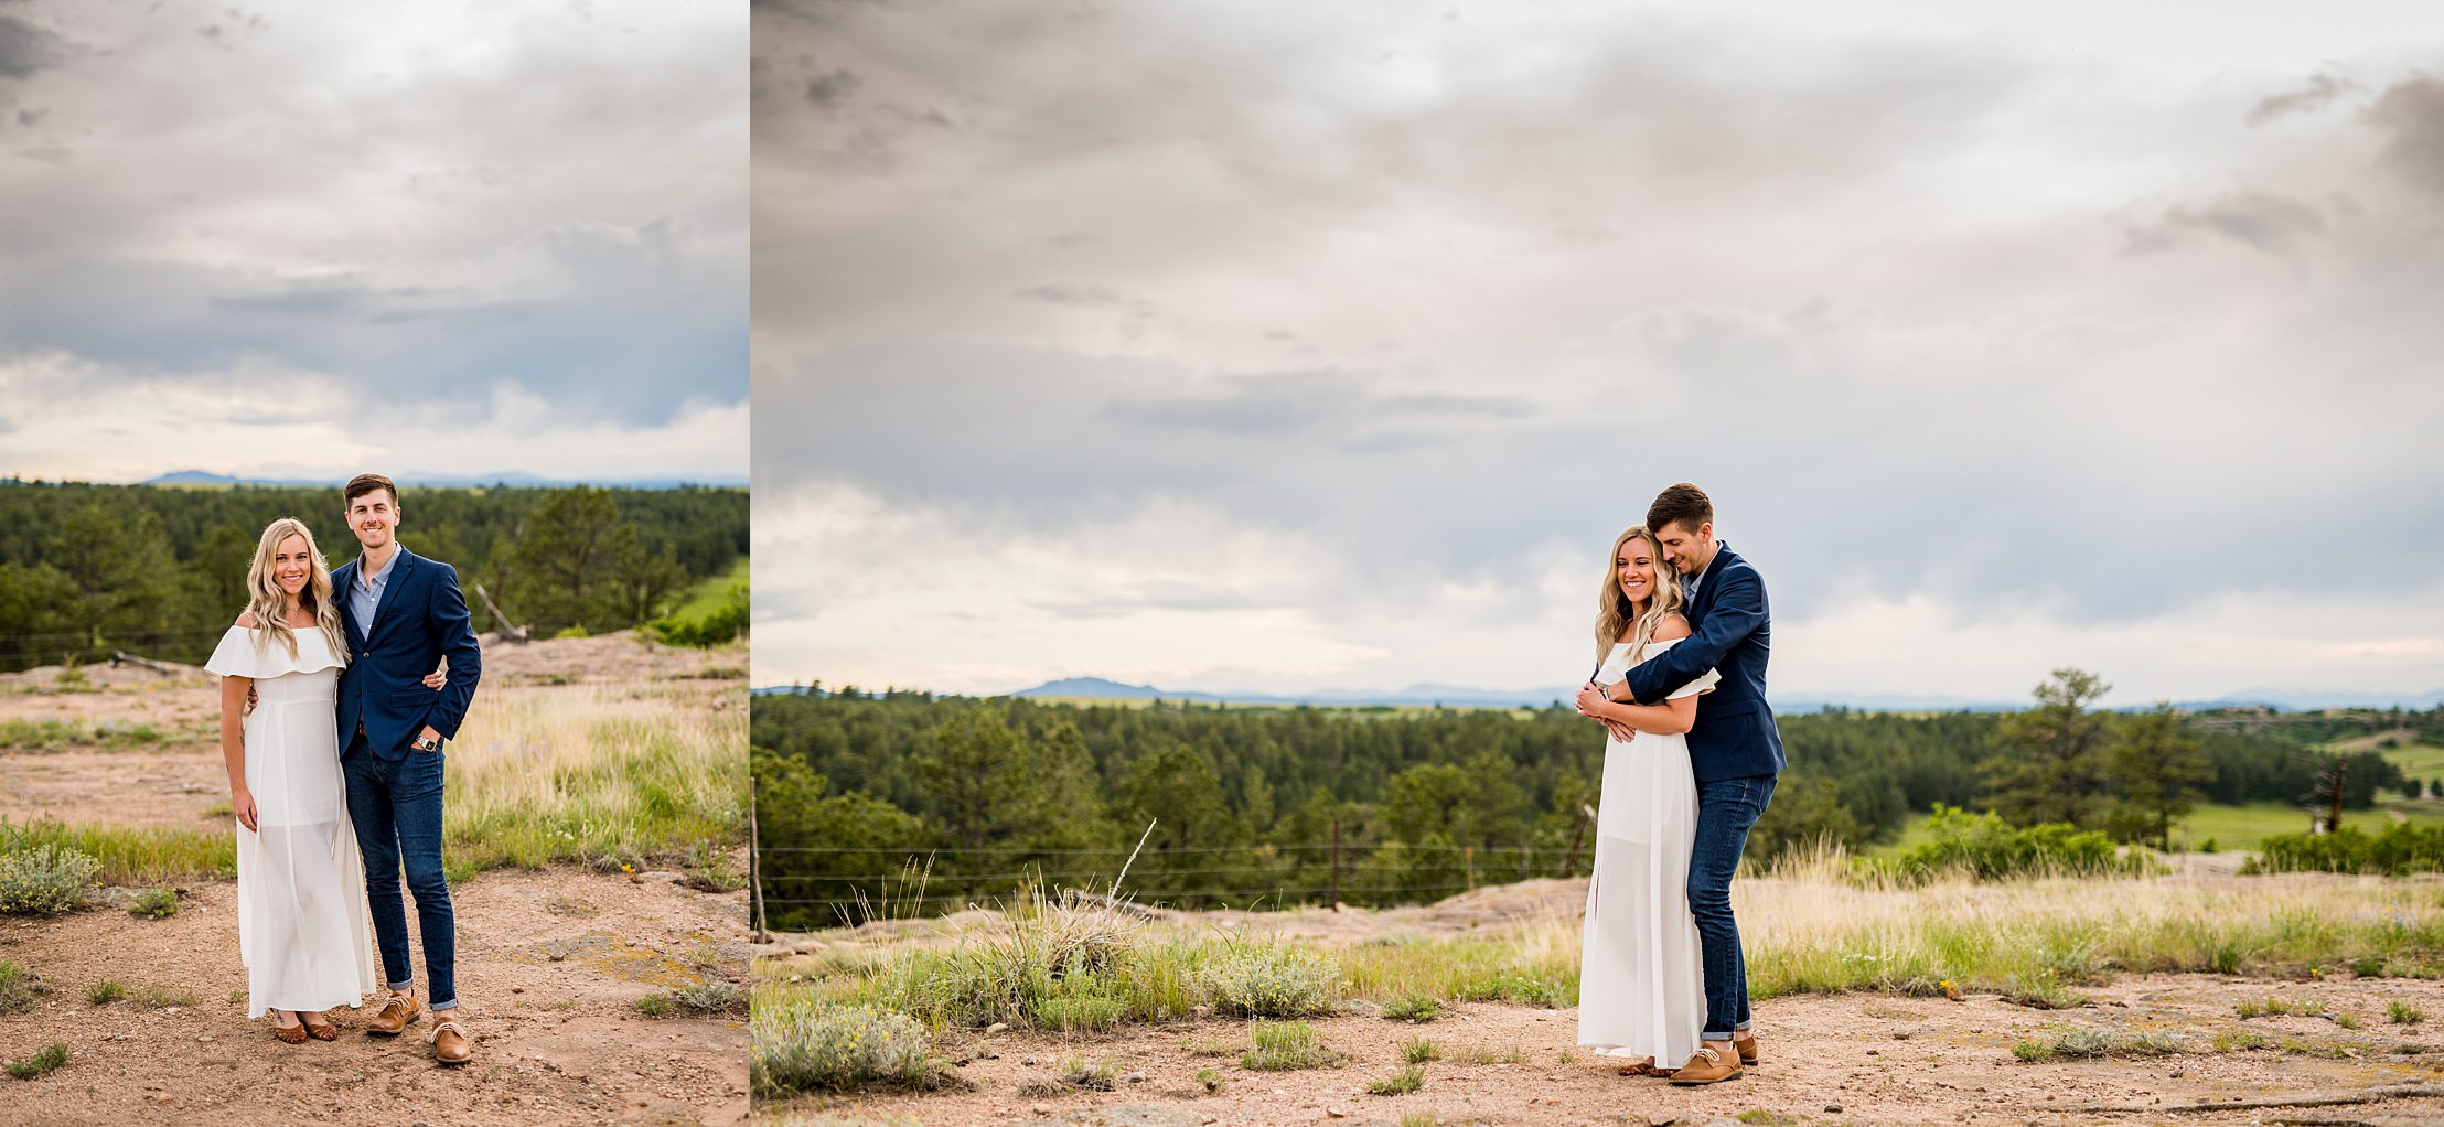
[[[643,680],[701,687],[706,709],[745,697],[741,680],[721,675],[741,665],[736,650],[645,648],[631,636],[486,638],[484,658],[477,707]],[[149,724],[164,738],[0,748],[0,814],[227,824],[210,677],[88,667],[86,689],[59,692],[59,672],[0,677],[0,721]],[[433,1063],[430,1017],[393,1041],[367,1037],[371,1007],[337,1010],[337,1041],[274,1041],[269,1022],[244,1017],[237,885],[205,880],[181,892],[178,914],[159,922],[108,902],[56,919],[0,917],[0,958],[46,988],[29,1012],[0,1017],[0,1059],[68,1046],[68,1063],[44,1078],[0,1078],[0,1125],[726,1125],[748,1115],[745,1015],[650,1019],[635,1007],[706,975],[743,980],[745,892],[699,892],[677,873],[631,880],[577,868],[452,885],[459,1012],[477,1039],[464,1068]],[[105,978],[130,997],[88,1002]]]

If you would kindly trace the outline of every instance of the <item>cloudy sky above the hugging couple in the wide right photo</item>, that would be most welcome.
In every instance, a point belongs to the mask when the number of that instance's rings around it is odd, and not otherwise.
[[[2444,32],[1972,7],[755,7],[758,682],[2444,689]]]

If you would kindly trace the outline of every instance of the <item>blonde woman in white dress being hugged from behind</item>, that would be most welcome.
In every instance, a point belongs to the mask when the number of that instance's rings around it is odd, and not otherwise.
[[[1689,636],[1679,584],[1659,572],[1662,550],[1645,526],[1613,538],[1611,560],[1589,685],[1620,680]],[[1579,956],[1579,1044],[1625,1059],[1623,1076],[1669,1076],[1657,1061],[1686,1061],[1706,1024],[1706,975],[1686,892],[1696,839],[1686,733],[1696,697],[1716,680],[1708,670],[1652,707],[1584,694],[1579,702],[1608,731]]]

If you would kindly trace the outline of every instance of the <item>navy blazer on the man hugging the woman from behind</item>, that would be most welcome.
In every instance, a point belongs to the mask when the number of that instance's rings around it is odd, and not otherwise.
[[[1779,775],[1782,731],[1765,704],[1765,658],[1774,638],[1765,579],[1730,545],[1716,545],[1681,616],[1689,619],[1689,638],[1630,670],[1623,677],[1630,697],[1662,704],[1672,689],[1716,670],[1723,682],[1696,699],[1696,726],[1689,729],[1696,780]]]

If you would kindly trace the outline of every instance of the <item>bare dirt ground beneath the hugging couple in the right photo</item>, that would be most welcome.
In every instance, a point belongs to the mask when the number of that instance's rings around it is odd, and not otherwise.
[[[2344,1029],[2327,1017],[2234,1017],[2241,1000],[2319,1000],[2327,1012],[2354,1015]],[[1342,1068],[1256,1073],[1239,1066],[1246,1022],[1195,1022],[1114,1037],[958,1034],[938,1054],[960,1061],[973,1085],[934,1095],[807,1098],[767,1105],[763,1115],[819,1112],[926,1127],[970,1125],[1400,1125],[1425,1112],[1442,1125],[1659,1125],[1738,1120],[1772,1125],[2085,1125],[2085,1122],[2444,1122],[2444,1098],[2385,1100],[2341,1107],[2246,1112],[2175,1112],[2202,1100],[2363,1090],[2444,1081],[2444,1034],[2429,1024],[2385,1022],[2385,1002],[2402,1000],[2444,1015],[2444,983],[2327,980],[2268,983],[2212,975],[2146,975],[2090,990],[2092,1007],[2024,1010],[1992,995],[1897,1000],[1872,995],[1777,997],[1757,1010],[1762,1063],[1711,1088],[1674,1088],[1657,1078],[1623,1078],[1613,1066],[1571,1051],[1576,1010],[1520,1005],[1459,1005],[1427,1024],[1374,1015],[1320,1019],[1327,1046],[1349,1054]],[[2195,1051],[2141,1061],[2024,1063],[2011,1044],[2063,1027],[2107,1032],[2187,1029],[2200,1041],[2217,1032],[2288,1037],[2344,1056],[2261,1051]],[[1425,1037],[1442,1049],[1425,1063],[1425,1085],[1405,1095],[1371,1095],[1371,1081],[1400,1071],[1400,1049]],[[1229,1046],[1227,1056],[1215,1056]],[[1506,1056],[1518,1051],[1518,1063]],[[1200,1054],[1202,1051],[1202,1054]],[[1476,1056],[1471,1061],[1471,1056]],[[1068,1088],[1022,1095],[1029,1081],[1053,1081],[1073,1059],[1112,1061],[1117,1090]],[[1200,1068],[1224,1076],[1220,1093],[1195,1081]],[[1127,1076],[1141,1076],[1129,1081]],[[2136,1107],[2136,1110],[2107,1110]]]

